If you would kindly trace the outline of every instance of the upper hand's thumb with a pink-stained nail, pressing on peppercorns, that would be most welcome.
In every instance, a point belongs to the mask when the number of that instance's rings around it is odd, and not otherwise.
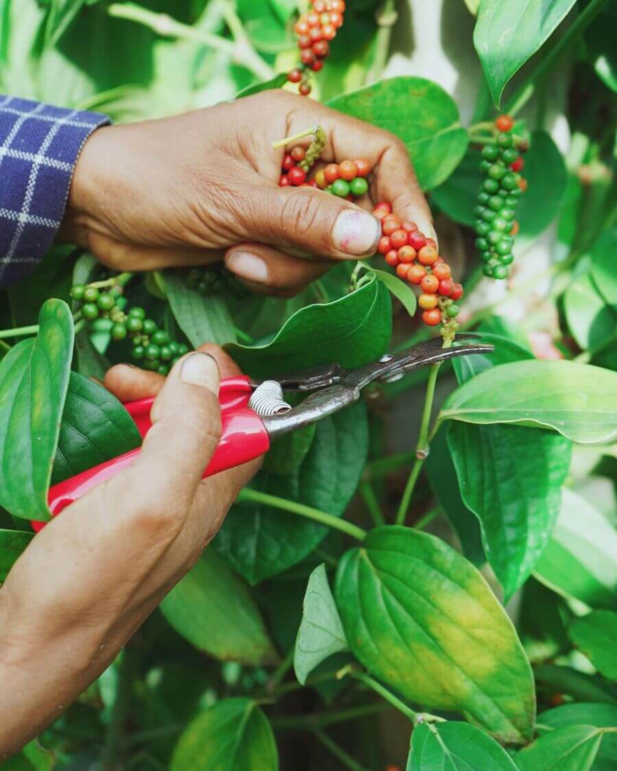
[[[349,259],[375,254],[381,226],[373,214],[312,187],[275,187],[255,197],[251,241],[295,254]],[[255,237],[255,232],[258,237]]]

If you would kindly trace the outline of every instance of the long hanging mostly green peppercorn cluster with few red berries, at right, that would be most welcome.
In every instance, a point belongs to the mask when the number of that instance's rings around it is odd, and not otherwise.
[[[516,210],[518,200],[527,189],[521,176],[524,166],[521,153],[528,143],[512,133],[514,121],[501,115],[495,121],[494,141],[482,148],[480,171],[486,175],[474,208],[476,248],[484,263],[482,271],[489,278],[507,278],[514,261],[512,247],[518,233]]]

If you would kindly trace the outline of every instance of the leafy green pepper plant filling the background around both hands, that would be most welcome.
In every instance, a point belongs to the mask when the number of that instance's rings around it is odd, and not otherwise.
[[[465,257],[460,325],[494,353],[278,440],[160,611],[3,769],[614,767],[615,10],[466,3],[484,72],[469,125],[437,82],[383,78],[394,33],[411,35],[393,0],[349,2],[311,98],[406,143],[454,234],[440,245]],[[292,0],[0,0],[0,24],[0,90],[116,121],[283,87],[298,56]],[[493,198],[521,170],[502,248]],[[117,275],[55,247],[0,312],[0,581],[51,483],[138,446],[96,382],[131,336],[150,369],[212,341],[275,378],[435,334],[379,256],[281,300],[220,268]]]

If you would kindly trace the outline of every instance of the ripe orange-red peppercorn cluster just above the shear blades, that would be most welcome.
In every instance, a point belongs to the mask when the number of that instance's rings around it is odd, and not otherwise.
[[[396,268],[403,281],[420,286],[418,305],[422,320],[430,327],[453,325],[463,297],[463,287],[452,280],[452,269],[443,261],[433,238],[418,230],[415,222],[402,222],[392,213],[390,204],[377,204],[373,215],[381,221],[382,237],[377,251],[386,264]]]

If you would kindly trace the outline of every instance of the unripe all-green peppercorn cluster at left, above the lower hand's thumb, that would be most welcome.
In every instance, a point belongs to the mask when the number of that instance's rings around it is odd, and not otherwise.
[[[110,335],[113,340],[130,338],[133,342],[131,356],[140,362],[143,369],[167,375],[171,367],[188,352],[188,346],[170,339],[151,318],[146,318],[143,308],[130,308],[124,312],[126,298],[123,288],[110,281],[95,284],[73,284],[71,297],[78,302],[81,318],[93,322],[96,318],[109,318],[112,323]]]

